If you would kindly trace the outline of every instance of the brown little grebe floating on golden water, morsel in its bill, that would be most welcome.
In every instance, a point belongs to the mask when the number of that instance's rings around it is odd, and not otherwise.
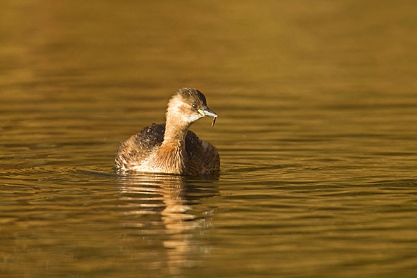
[[[152,124],[122,142],[115,167],[121,171],[197,176],[220,171],[220,157],[210,143],[189,131],[201,117],[217,114],[196,89],[182,88],[168,102],[165,124]]]

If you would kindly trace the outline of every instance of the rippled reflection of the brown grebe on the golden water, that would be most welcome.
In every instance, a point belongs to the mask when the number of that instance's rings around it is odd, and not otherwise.
[[[170,274],[195,266],[199,263],[195,255],[210,250],[204,238],[211,227],[214,208],[202,200],[219,195],[216,180],[167,174],[120,175],[119,207],[125,215],[124,226],[139,228],[142,234],[163,235],[157,245],[167,255]]]

